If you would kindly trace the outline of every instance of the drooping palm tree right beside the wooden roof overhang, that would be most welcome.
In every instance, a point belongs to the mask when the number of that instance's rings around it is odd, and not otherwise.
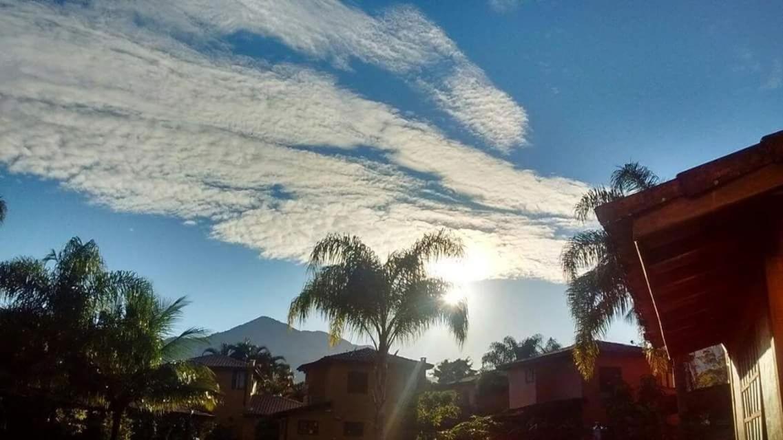
[[[612,173],[608,187],[592,188],[583,195],[576,204],[576,218],[592,220],[597,206],[658,182],[659,177],[645,166],[626,163]],[[561,266],[568,282],[568,307],[576,321],[574,361],[579,372],[590,377],[598,356],[597,338],[616,318],[635,320],[636,311],[617,249],[603,229],[581,231],[570,238],[561,253]]]

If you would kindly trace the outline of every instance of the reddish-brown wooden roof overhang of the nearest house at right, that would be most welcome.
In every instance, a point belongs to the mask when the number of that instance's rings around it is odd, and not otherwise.
[[[596,209],[646,338],[670,356],[725,341],[781,213],[783,131]]]

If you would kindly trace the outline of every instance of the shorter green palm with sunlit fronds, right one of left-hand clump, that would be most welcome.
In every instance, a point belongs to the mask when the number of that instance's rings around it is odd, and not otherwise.
[[[198,328],[170,338],[185,298],[160,299],[149,281],[135,274],[112,278],[114,297],[99,312],[95,378],[112,415],[111,439],[117,439],[122,417],[132,406],[150,411],[214,408],[218,386],[211,370],[175,361],[206,338]]]

